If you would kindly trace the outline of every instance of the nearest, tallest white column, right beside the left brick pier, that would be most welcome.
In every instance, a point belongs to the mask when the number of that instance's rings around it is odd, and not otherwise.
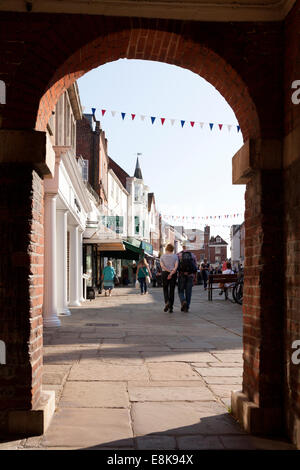
[[[56,270],[56,198],[45,194],[45,266],[44,266],[44,327],[60,326],[57,316]]]

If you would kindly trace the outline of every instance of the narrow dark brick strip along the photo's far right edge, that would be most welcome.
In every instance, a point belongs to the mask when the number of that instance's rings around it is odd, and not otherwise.
[[[300,104],[292,103],[294,80],[300,80],[300,2],[285,25],[285,136],[298,128]],[[285,205],[285,376],[286,423],[291,439],[296,439],[296,421],[300,420],[300,365],[293,364],[292,343],[300,339],[300,147],[294,143],[295,160],[284,172]],[[299,423],[299,422],[298,422]],[[300,424],[298,424],[300,445]]]

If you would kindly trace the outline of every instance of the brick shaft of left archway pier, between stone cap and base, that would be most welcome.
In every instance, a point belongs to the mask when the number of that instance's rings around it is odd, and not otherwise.
[[[42,379],[43,182],[30,166],[1,164],[0,188],[0,410],[31,409]]]

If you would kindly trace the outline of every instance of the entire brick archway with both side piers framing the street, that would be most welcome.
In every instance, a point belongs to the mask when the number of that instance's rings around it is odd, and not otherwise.
[[[46,129],[59,96],[84,73],[119,58],[148,59],[187,68],[205,78],[235,112],[244,141],[258,144],[250,145],[249,161],[241,165],[248,183],[247,289],[244,394],[236,397],[235,412],[250,431],[282,430],[284,275],[273,270],[273,263],[274,259],[279,266],[283,263],[285,26],[22,13],[3,14],[0,21],[5,43],[0,79],[7,86],[6,104],[0,105],[0,131],[7,144],[2,154],[0,146],[1,248],[3,266],[8,265],[0,284],[9,294],[3,294],[1,308],[12,389],[12,398],[0,400],[0,409],[35,409],[41,392],[43,292],[42,286],[35,285],[35,275],[43,271],[43,171],[38,157],[44,157],[45,133],[33,129]],[[291,31],[288,43],[296,44],[298,29]],[[291,109],[291,125],[294,114]],[[20,240],[7,236],[19,233],[24,234]],[[295,398],[290,412],[296,409],[296,401],[299,406]]]

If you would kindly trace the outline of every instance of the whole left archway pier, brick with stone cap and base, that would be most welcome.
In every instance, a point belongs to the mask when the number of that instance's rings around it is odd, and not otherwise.
[[[42,391],[44,132],[0,130],[0,432],[41,434],[55,394]]]

